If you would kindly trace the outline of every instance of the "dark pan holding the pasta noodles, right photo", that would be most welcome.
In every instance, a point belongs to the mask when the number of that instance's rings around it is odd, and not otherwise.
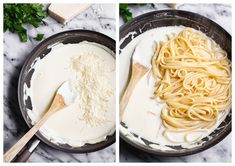
[[[228,53],[228,58],[231,60],[231,36],[228,32],[226,32],[221,26],[211,21],[210,19],[203,17],[196,13],[191,13],[182,10],[159,10],[150,13],[143,14],[134,18],[132,21],[124,24],[120,27],[120,39],[125,38],[125,40],[120,45],[120,49],[125,48],[125,46],[131,42],[132,36],[126,36],[129,32],[136,32],[134,37],[144,33],[150,29],[164,26],[179,26],[183,25],[185,27],[192,27],[194,29],[200,30],[205,33],[207,36],[211,37],[216,43],[218,43],[224,50]],[[230,110],[229,114],[225,118],[225,120],[219,125],[219,127],[213,131],[209,137],[204,137],[201,142],[201,145],[196,146],[194,148],[182,148],[181,146],[170,146],[172,150],[161,151],[159,149],[153,149],[149,146],[152,142],[145,140],[143,138],[143,144],[137,143],[126,137],[122,132],[120,132],[120,137],[130,144],[131,146],[150,153],[156,156],[184,156],[191,155],[194,153],[201,152],[205,149],[208,149],[222,139],[224,139],[231,132],[231,115],[232,110]],[[123,127],[125,124],[121,122]],[[138,137],[138,135],[135,135]]]

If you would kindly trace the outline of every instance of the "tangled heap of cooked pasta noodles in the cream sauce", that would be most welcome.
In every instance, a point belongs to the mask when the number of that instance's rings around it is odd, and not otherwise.
[[[167,131],[213,126],[231,105],[231,62],[227,53],[200,31],[185,28],[157,44],[152,57],[153,99],[166,102],[161,118]]]

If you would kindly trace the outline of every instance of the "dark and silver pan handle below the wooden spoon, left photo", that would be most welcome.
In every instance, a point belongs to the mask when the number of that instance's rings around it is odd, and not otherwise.
[[[14,162],[26,162],[29,157],[31,156],[31,154],[34,152],[34,150],[36,149],[36,147],[38,146],[38,144],[40,143],[40,141],[38,139],[34,139],[34,141],[30,144],[29,147],[26,147],[22,153],[20,153]]]

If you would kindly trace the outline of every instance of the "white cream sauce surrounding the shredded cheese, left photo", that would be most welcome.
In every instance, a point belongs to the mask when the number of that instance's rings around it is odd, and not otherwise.
[[[81,42],[78,44],[61,44],[51,46],[52,50],[43,58],[37,59],[32,66],[35,69],[31,78],[31,87],[24,86],[25,96],[31,97],[32,110],[28,110],[28,116],[35,124],[47,111],[57,89],[60,85],[72,82],[76,74],[71,71],[71,59],[80,55],[90,56],[96,54],[103,62],[112,68],[108,75],[109,84],[115,93],[115,59],[113,52],[97,43]],[[66,96],[66,92],[61,92]],[[69,144],[74,147],[86,143],[103,141],[115,131],[115,94],[108,102],[108,111],[105,113],[107,121],[90,126],[81,120],[82,111],[79,110],[79,94],[75,102],[52,115],[41,127],[40,132],[54,143]],[[67,100],[67,99],[65,99]]]

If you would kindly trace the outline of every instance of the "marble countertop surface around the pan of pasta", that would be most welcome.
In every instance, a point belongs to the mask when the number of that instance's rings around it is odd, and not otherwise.
[[[130,10],[136,17],[143,13],[155,10],[169,9],[164,4],[131,5]],[[221,25],[230,34],[232,32],[232,7],[223,4],[179,4],[177,9],[187,10],[204,15]],[[119,24],[123,19],[120,17]],[[231,162],[232,158],[232,134],[223,141],[201,153],[184,157],[157,157],[141,153],[133,149],[122,140],[120,141],[120,162]]]

